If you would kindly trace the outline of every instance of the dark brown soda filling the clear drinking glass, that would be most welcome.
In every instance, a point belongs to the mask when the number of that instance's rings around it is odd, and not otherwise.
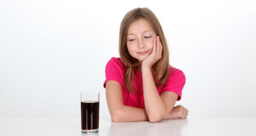
[[[94,130],[99,128],[99,102],[81,102],[82,130]]]

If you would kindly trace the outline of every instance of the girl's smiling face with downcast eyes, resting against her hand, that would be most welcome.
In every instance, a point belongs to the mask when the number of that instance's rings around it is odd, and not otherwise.
[[[154,32],[150,24],[143,18],[140,18],[128,28],[126,45],[129,54],[143,61],[152,52],[153,40],[157,38],[157,34]]]

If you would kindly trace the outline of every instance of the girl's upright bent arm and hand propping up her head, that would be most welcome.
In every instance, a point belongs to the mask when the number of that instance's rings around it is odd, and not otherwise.
[[[173,109],[178,95],[173,92],[163,92],[160,96],[151,72],[151,67],[162,57],[163,46],[159,36],[153,41],[151,54],[146,57],[141,66],[143,80],[143,95],[145,111],[150,122],[159,122]]]

